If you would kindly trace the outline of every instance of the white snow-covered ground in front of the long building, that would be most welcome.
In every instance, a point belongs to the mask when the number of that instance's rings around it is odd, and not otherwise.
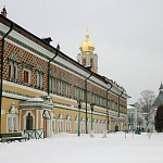
[[[0,163],[163,163],[163,135],[60,134],[24,142],[0,142]]]

